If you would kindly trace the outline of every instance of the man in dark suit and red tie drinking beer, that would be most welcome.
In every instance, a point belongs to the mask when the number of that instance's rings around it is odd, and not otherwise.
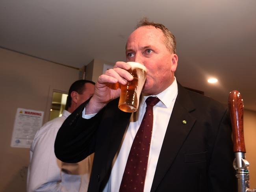
[[[138,110],[118,108],[120,85],[133,80],[131,66],[119,61],[59,129],[58,159],[95,152],[89,192],[234,192],[227,109],[176,81],[174,35],[142,20],[128,37],[126,61],[147,69]]]

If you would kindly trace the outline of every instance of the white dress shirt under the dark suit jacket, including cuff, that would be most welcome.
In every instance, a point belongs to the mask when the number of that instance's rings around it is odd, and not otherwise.
[[[163,92],[157,95],[151,95],[158,97],[160,99],[160,102],[158,102],[153,108],[153,130],[150,151],[148,156],[148,168],[145,179],[144,192],[150,192],[152,182],[154,179],[154,174],[156,172],[158,157],[160,155],[163,139],[165,137],[165,132],[169,123],[169,119],[171,117],[171,113],[173,111],[173,106],[177,94],[178,85],[175,78],[174,82]],[[137,110],[137,112],[132,113],[132,116],[130,118],[130,124],[128,125],[128,128],[124,133],[121,146],[117,151],[115,158],[113,159],[111,175],[103,192],[119,191],[122,181],[122,175],[124,174],[124,169],[130,153],[130,149],[132,147],[134,137],[139,129],[139,126],[146,111],[147,104],[145,103],[145,100],[148,97],[149,95],[142,95],[139,104],[139,109]],[[85,110],[83,111],[83,118],[91,118],[93,115],[94,114],[85,115]]]

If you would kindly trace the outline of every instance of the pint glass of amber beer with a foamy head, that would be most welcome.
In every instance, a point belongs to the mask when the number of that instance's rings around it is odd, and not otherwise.
[[[127,62],[131,68],[128,70],[134,77],[126,85],[121,85],[121,94],[118,107],[124,112],[135,112],[139,107],[139,96],[146,81],[147,68],[136,62]]]

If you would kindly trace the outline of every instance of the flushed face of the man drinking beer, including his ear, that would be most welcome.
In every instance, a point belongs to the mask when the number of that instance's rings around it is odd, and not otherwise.
[[[158,94],[174,81],[178,56],[165,46],[164,35],[153,26],[142,26],[135,30],[126,44],[126,61],[141,63],[147,68],[147,79],[143,88],[146,94]]]

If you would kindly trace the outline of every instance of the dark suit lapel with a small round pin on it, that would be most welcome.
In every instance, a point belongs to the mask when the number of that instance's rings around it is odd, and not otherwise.
[[[178,96],[163,140],[151,192],[155,191],[162,181],[195,124],[196,119],[190,114],[194,109],[187,91],[178,84]]]

